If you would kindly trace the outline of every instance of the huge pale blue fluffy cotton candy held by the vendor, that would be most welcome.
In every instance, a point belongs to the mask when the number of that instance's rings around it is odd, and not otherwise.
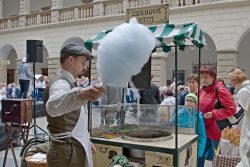
[[[155,48],[153,33],[135,18],[107,34],[97,48],[97,72],[103,84],[126,86],[149,60]]]

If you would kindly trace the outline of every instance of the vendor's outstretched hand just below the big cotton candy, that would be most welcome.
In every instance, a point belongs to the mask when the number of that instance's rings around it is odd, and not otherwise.
[[[79,92],[80,98],[87,101],[95,101],[106,94],[106,89],[102,86],[89,86]]]

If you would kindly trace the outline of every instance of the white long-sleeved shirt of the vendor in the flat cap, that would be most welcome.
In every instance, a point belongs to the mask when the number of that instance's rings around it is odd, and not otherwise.
[[[58,75],[64,76],[71,83],[75,82],[74,76],[63,69],[58,70]],[[75,87],[71,89],[70,84],[65,80],[57,80],[50,85],[49,99],[46,103],[46,110],[51,117],[61,116],[76,109],[79,109],[87,101],[79,96],[79,90]]]

